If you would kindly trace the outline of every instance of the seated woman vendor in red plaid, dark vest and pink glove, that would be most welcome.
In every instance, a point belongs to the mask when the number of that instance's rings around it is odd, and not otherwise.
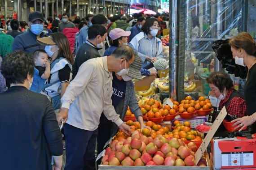
[[[218,100],[220,100],[219,110],[224,106],[227,113],[230,115],[237,115],[243,117],[246,113],[245,100],[242,94],[233,88],[233,81],[225,72],[212,72],[206,79],[211,88],[211,93]],[[206,125],[199,125],[197,130],[199,132],[209,131],[210,127]]]

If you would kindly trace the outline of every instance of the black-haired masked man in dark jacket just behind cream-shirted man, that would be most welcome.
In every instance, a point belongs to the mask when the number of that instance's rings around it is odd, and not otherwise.
[[[82,30],[82,29],[81,29]],[[88,29],[88,40],[77,51],[75,62],[72,69],[72,80],[75,78],[79,67],[88,59],[101,57],[98,50],[101,49],[100,44],[104,42],[106,37],[106,28],[104,26],[94,24]]]

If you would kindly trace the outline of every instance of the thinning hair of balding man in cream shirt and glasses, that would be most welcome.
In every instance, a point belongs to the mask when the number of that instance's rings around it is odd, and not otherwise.
[[[123,45],[123,46],[117,47],[115,51],[112,53],[112,55],[116,59],[125,58],[129,61],[134,56],[134,52],[132,50],[132,47],[129,47],[128,45]]]

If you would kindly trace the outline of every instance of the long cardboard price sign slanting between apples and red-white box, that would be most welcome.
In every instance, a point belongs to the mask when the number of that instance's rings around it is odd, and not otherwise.
[[[204,151],[206,150],[206,147],[211,142],[212,137],[214,136],[215,132],[217,131],[217,129],[221,125],[221,123],[224,120],[224,118],[226,117],[226,115],[227,115],[227,110],[224,106],[221,109],[221,112],[219,113],[219,115],[216,117],[215,121],[212,123],[211,129],[207,133],[207,135],[205,136],[205,138],[204,138],[202,144],[200,145],[199,149],[195,153],[195,165],[197,165],[197,163],[201,159]]]

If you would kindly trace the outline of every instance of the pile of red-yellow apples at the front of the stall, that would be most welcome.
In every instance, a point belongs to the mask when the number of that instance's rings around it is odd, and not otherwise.
[[[127,139],[113,140],[102,157],[102,165],[110,166],[195,166],[197,146],[177,138],[155,139],[134,131]],[[202,158],[197,166],[206,166]]]

